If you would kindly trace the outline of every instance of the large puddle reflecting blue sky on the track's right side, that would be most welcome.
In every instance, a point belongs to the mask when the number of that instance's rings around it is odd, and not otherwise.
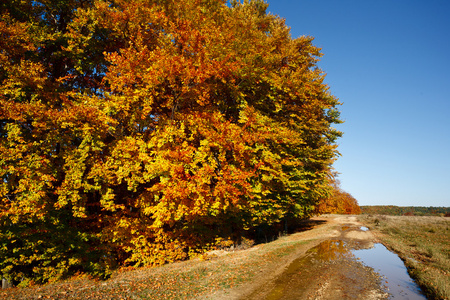
[[[419,286],[409,277],[403,261],[384,245],[375,244],[373,248],[352,252],[365,265],[384,277],[384,285],[392,295],[390,299],[427,299]]]

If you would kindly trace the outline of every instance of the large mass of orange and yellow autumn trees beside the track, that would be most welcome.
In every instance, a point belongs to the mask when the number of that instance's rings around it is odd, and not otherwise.
[[[338,100],[263,1],[1,4],[0,273],[185,259],[327,194]]]

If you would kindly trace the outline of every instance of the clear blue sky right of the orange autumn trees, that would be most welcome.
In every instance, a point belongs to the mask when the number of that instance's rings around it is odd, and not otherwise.
[[[450,206],[450,1],[266,2],[322,48],[342,188],[360,205]]]

